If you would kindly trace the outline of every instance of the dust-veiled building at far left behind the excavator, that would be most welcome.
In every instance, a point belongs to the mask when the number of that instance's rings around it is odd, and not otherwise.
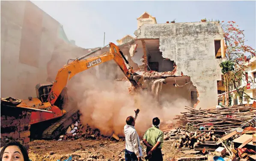
[[[88,49],[72,45],[63,26],[34,3],[1,1],[1,97],[35,97],[36,84],[47,82],[49,75],[55,79],[68,59],[86,53]]]

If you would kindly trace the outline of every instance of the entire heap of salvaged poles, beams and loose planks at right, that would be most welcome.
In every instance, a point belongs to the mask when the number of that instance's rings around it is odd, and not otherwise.
[[[176,115],[179,128],[164,132],[164,140],[175,139],[173,146],[194,149],[202,154],[214,152],[230,158],[256,159],[256,108],[237,105],[224,108],[194,109]],[[250,159],[249,159],[250,160]]]

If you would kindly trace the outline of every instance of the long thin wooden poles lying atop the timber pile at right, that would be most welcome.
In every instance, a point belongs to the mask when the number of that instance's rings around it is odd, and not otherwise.
[[[185,106],[187,112],[181,112],[181,115],[176,115],[177,123],[185,125],[186,123],[193,123],[200,132],[230,132],[234,128],[243,126],[255,126],[253,122],[249,122],[256,117],[256,108],[252,106],[231,106],[224,108],[210,108],[210,109],[194,109]],[[209,129],[201,129],[201,126],[211,127]]]

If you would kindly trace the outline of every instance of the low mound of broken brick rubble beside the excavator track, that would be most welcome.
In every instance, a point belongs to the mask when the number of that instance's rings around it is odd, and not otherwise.
[[[124,141],[123,138],[119,138],[117,135],[113,134],[111,137],[101,135],[98,129],[92,129],[89,125],[83,125],[80,120],[77,120],[75,123],[71,124],[68,127],[65,134],[60,135],[58,141],[63,140],[77,140],[79,138],[85,139],[95,139],[95,140],[115,140],[115,141]]]

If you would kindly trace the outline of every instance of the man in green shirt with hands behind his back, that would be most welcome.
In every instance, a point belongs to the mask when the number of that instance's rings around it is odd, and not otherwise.
[[[152,127],[147,129],[143,137],[143,143],[147,146],[146,152],[149,161],[163,161],[161,148],[164,143],[164,133],[159,129],[160,120],[153,118]]]

